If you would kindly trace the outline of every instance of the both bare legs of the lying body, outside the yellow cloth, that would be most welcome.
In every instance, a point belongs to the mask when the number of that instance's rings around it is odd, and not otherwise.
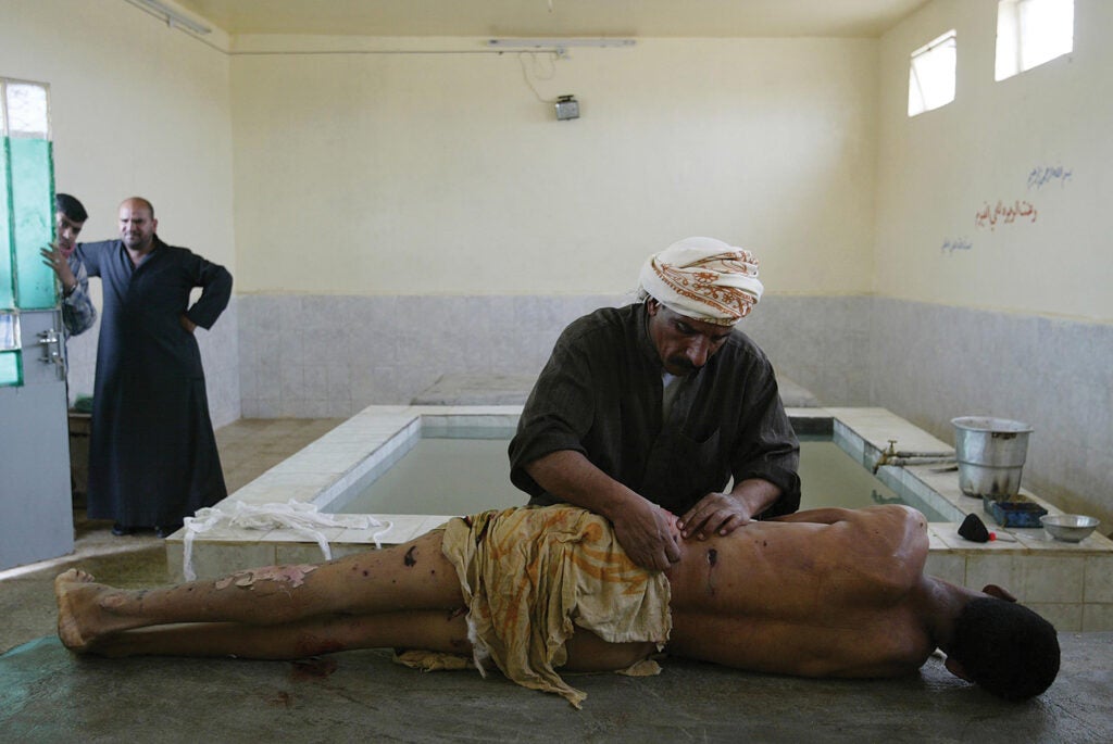
[[[304,658],[403,646],[471,653],[455,569],[441,533],[319,565],[269,566],[221,579],[127,591],[76,569],[55,579],[58,634],[104,654]],[[580,629],[567,668],[626,668],[653,648]]]

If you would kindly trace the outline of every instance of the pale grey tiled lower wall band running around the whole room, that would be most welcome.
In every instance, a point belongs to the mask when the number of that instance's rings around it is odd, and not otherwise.
[[[230,420],[234,395],[245,417],[343,417],[370,404],[407,403],[444,374],[536,374],[569,321],[627,301],[243,296],[238,318],[214,328],[238,324],[238,380],[206,356],[210,395],[221,406],[214,420]],[[947,443],[955,416],[1028,421],[1035,433],[1025,485],[1113,528],[1113,326],[877,297],[772,295],[740,328],[824,405],[884,407]],[[79,368],[90,336],[70,341]]]

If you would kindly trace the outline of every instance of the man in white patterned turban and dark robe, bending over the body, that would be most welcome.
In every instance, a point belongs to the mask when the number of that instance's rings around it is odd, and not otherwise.
[[[706,537],[795,512],[799,444],[768,358],[733,327],[761,298],[754,255],[687,238],[639,279],[638,302],[561,334],[510,444],[511,480],[530,504],[603,515],[636,563],[664,569],[680,555],[670,513]]]

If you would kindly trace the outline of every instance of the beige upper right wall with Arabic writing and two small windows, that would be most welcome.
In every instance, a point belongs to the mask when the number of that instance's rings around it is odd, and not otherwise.
[[[936,0],[881,40],[878,294],[1113,320],[1113,3],[1075,0],[1074,52],[1001,82],[996,11],[996,0]],[[908,118],[908,56],[952,28],[955,101]],[[1047,168],[1071,177],[1028,185]],[[998,201],[1035,218],[978,226]]]

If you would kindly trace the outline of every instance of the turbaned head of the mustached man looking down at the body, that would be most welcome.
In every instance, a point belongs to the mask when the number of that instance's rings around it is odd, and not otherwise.
[[[715,356],[761,298],[758,261],[715,238],[686,238],[647,259],[639,297],[666,371],[690,375]]]

